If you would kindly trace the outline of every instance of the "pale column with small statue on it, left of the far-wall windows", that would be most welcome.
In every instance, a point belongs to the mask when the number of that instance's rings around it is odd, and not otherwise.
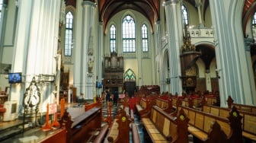
[[[75,62],[74,62],[74,87],[77,87],[78,94],[84,94],[84,99],[93,99],[94,94],[94,74],[88,70],[90,59],[94,59],[94,2],[79,0],[77,8],[75,35]],[[91,48],[91,53],[88,49]],[[95,62],[92,63],[93,70]]]

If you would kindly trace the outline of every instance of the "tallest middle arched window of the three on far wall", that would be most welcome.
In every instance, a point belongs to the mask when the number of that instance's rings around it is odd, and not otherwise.
[[[122,26],[123,52],[136,52],[135,48],[135,22],[129,14],[123,18]]]

